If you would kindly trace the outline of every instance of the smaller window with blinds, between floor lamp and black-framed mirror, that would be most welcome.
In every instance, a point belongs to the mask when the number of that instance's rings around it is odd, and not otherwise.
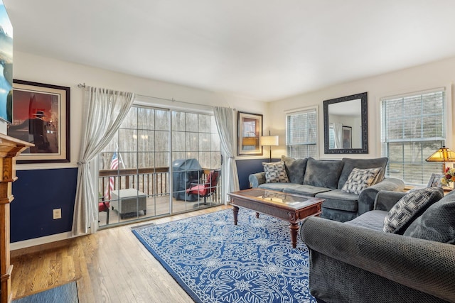
[[[317,146],[316,109],[298,111],[286,115],[286,149],[292,158],[316,158]]]

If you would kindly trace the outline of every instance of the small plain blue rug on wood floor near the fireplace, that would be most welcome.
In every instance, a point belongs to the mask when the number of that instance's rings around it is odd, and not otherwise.
[[[30,296],[15,299],[14,303],[77,303],[77,285],[76,282],[69,282],[58,287],[45,290],[44,292],[37,292]]]

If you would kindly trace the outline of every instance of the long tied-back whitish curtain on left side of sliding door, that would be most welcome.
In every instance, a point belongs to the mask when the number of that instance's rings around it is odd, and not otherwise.
[[[89,162],[119,129],[134,101],[131,92],[87,87],[85,89],[85,119],[83,121],[80,160],[77,161],[76,198],[73,215],[73,235],[87,233],[97,220],[98,203],[90,174]],[[97,186],[97,185],[96,185]]]

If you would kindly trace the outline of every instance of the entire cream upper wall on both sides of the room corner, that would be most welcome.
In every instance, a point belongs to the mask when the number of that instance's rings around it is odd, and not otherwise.
[[[453,106],[455,99],[452,83],[455,80],[455,57],[433,62],[427,65],[412,67],[406,70],[390,72],[377,77],[369,77],[358,81],[338,84],[333,87],[319,89],[307,94],[301,94],[288,99],[264,103],[236,97],[228,94],[208,92],[181,85],[159,82],[140,77],[133,77],[117,72],[101,70],[95,67],[77,65],[71,62],[54,60],[48,57],[14,52],[14,79],[32,82],[55,84],[71,88],[71,162],[48,165],[18,165],[18,169],[28,168],[57,168],[75,167],[79,158],[79,145],[82,123],[83,90],[77,84],[84,83],[93,87],[124,90],[143,96],[176,99],[196,104],[210,106],[230,106],[239,111],[255,114],[264,114],[264,133],[272,131],[272,135],[279,135],[279,146],[272,148],[272,157],[279,158],[286,154],[285,111],[304,109],[309,106],[318,106],[319,111],[319,158],[342,158],[346,155],[324,155],[323,153],[323,100],[368,92],[368,154],[348,155],[358,158],[375,158],[381,156],[380,150],[380,98],[395,94],[417,92],[435,87],[446,87],[449,101],[449,148],[455,148],[452,143]],[[144,99],[144,98],[141,98]],[[145,98],[147,99],[147,98]],[[154,104],[164,106],[183,106],[178,102],[148,100]],[[186,105],[186,107],[191,105]],[[203,107],[201,107],[203,109]],[[207,109],[207,108],[205,108]],[[237,117],[235,117],[237,121]],[[266,152],[266,154],[268,154]],[[245,158],[245,157],[242,157]],[[267,157],[266,157],[267,158]]]

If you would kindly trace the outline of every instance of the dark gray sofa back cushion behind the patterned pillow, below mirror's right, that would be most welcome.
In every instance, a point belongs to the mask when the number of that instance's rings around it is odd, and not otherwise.
[[[346,183],[346,180],[348,180],[350,172],[355,167],[360,168],[360,169],[382,167],[382,170],[378,174],[378,178],[375,180],[375,182],[373,184],[381,182],[384,179],[385,167],[387,166],[387,162],[389,161],[389,158],[387,158],[387,157],[373,158],[373,159],[343,158],[342,161],[343,161],[344,165],[343,165],[343,171],[341,172],[340,178],[338,180],[338,187],[337,187],[338,189],[343,188],[343,185]],[[373,184],[371,184],[371,185],[373,185]]]

